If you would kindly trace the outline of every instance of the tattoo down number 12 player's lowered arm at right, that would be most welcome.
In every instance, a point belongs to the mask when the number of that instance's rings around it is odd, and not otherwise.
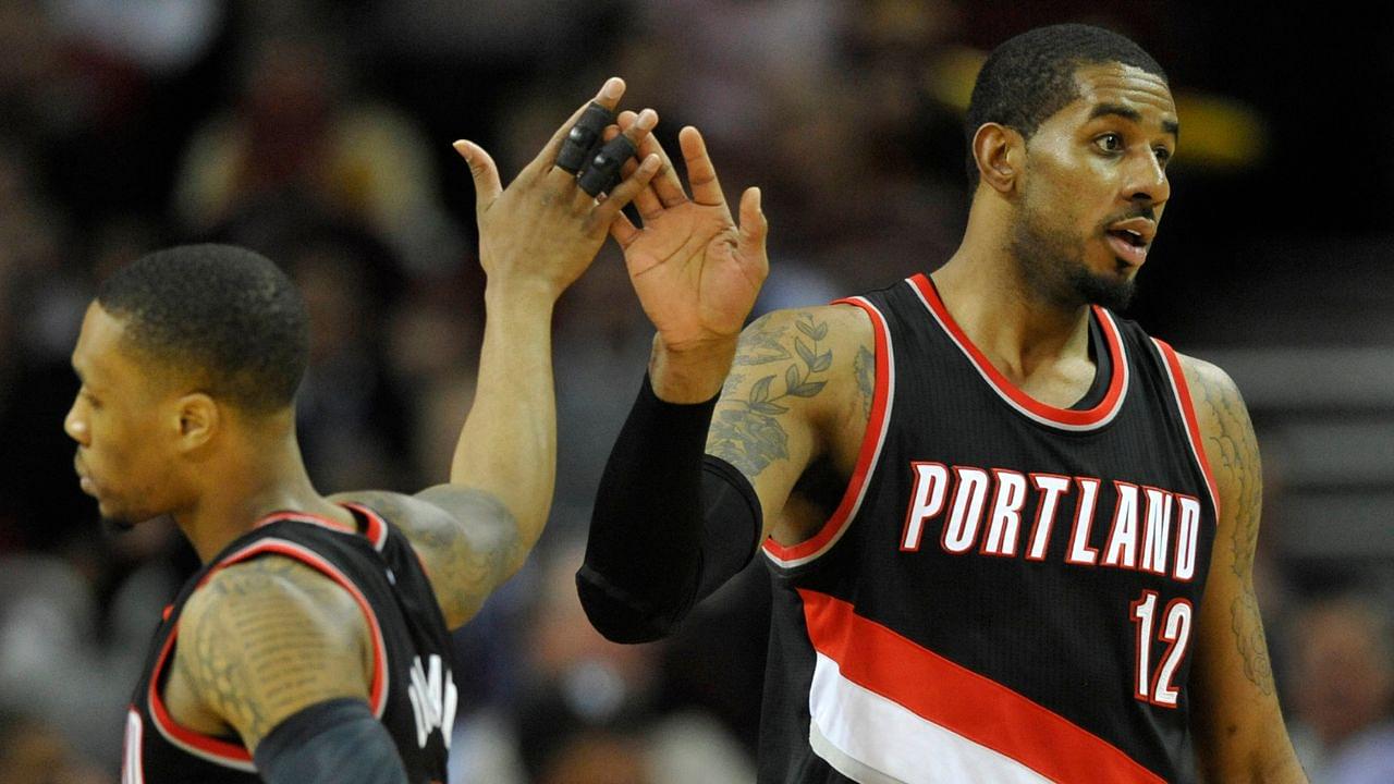
[[[1239,579],[1239,596],[1230,607],[1231,629],[1243,660],[1245,677],[1264,695],[1273,693],[1273,665],[1253,594],[1253,555],[1263,511],[1263,466],[1253,423],[1234,382],[1218,370],[1190,365],[1196,414],[1216,427],[1206,434],[1206,456],[1221,487],[1231,488],[1221,513],[1232,520],[1230,569]],[[1218,543],[1217,543],[1218,544]]]

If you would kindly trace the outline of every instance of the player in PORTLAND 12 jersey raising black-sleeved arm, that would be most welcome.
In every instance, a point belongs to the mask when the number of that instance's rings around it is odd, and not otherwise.
[[[1303,781],[1243,402],[1114,315],[1171,197],[1163,70],[1037,29],[990,56],[966,126],[947,264],[739,340],[758,193],[737,229],[680,134],[691,198],[665,170],[613,229],[658,335],[577,578],[592,622],[669,633],[761,550],[760,781]]]

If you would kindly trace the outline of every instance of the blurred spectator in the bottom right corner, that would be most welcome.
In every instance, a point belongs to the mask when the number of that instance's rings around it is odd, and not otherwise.
[[[1394,781],[1394,632],[1388,612],[1358,596],[1302,611],[1291,700],[1294,745],[1313,784]]]

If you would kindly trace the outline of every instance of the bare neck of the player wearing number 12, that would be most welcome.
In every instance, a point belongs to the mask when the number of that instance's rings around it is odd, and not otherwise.
[[[953,321],[997,368],[1016,382],[1059,363],[1089,363],[1089,306],[1062,307],[1022,276],[1002,226],[1006,215],[974,202],[963,244],[934,272]],[[1001,208],[998,208],[1001,211]]]

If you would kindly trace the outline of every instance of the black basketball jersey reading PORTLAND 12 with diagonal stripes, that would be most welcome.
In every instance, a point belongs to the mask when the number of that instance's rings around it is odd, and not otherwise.
[[[1217,495],[1175,353],[1092,308],[1105,384],[1057,409],[928,278],[842,301],[874,325],[875,391],[834,515],[764,544],[760,781],[1195,781]]]

